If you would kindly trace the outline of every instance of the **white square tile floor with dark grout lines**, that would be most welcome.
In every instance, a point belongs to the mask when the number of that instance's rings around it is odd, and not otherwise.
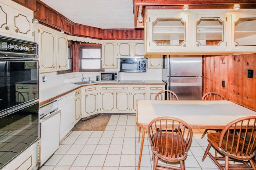
[[[137,170],[138,129],[135,115],[112,115],[105,131],[71,131],[40,170]],[[203,131],[193,129],[186,170],[219,170],[208,156],[201,161],[208,145]],[[149,145],[145,135],[140,170],[152,170]]]

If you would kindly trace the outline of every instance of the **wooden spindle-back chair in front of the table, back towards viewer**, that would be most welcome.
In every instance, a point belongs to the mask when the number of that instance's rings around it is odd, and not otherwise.
[[[179,129],[175,131],[174,129]],[[153,170],[185,170],[184,160],[192,141],[192,129],[184,121],[175,117],[158,117],[148,124],[148,136],[152,149]],[[168,164],[158,163],[158,159]],[[180,167],[170,162],[180,162]]]

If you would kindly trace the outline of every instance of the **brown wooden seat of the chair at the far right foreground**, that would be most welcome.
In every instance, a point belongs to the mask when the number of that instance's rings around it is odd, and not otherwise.
[[[229,152],[225,152],[225,150],[230,150],[231,149],[232,143],[228,142],[227,146],[222,145],[222,147],[220,148],[218,146],[219,145],[219,141],[220,141],[220,134],[221,133],[210,133],[210,134],[207,135],[207,138],[210,141],[210,143],[216,149],[218,149],[221,153],[223,153],[225,155],[228,155],[230,158],[235,158],[235,159],[239,158],[240,160],[250,160],[250,159],[252,159],[254,157],[254,152],[253,152],[253,154],[250,154],[250,155],[247,155],[247,156],[245,156],[244,154],[241,155],[241,150],[242,150],[242,146],[243,146],[242,144],[244,143],[244,147],[248,147],[248,143],[246,141],[244,141],[243,139],[241,139],[243,137],[240,138],[240,141],[239,141],[240,145],[238,146],[238,148],[237,148],[236,145],[234,145],[232,152],[230,152],[230,153]],[[228,138],[232,139],[232,137],[233,137],[233,134],[230,134]],[[227,137],[224,137],[222,143],[225,144],[226,141],[227,141]],[[229,140],[229,141],[232,141],[232,140]],[[238,136],[234,137],[234,141],[238,141]],[[225,147],[226,147],[226,149],[225,149]]]

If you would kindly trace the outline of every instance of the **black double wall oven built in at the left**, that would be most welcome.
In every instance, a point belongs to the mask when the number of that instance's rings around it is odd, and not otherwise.
[[[0,36],[0,169],[39,139],[38,44]]]

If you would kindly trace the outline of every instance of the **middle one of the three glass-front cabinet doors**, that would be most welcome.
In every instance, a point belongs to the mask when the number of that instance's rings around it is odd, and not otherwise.
[[[195,49],[225,49],[225,15],[194,15]]]

